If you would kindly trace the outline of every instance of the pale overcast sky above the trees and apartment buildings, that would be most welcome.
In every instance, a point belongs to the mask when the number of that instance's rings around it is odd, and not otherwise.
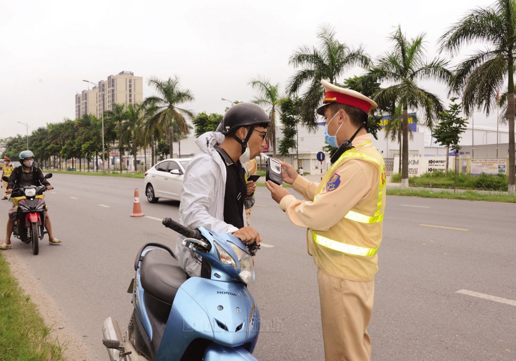
[[[123,70],[180,77],[195,95],[183,107],[223,113],[221,98],[249,101],[258,75],[285,83],[289,56],[315,45],[321,24],[337,39],[363,44],[376,58],[399,24],[408,37],[425,32],[429,56],[437,39],[468,10],[493,0],[385,1],[2,1],[0,5],[0,137],[25,135],[46,123],[75,118],[75,94]],[[465,55],[465,54],[464,54]],[[360,75],[359,69],[345,77]],[[448,104],[443,86],[423,84]],[[475,125],[495,118],[475,114]]]

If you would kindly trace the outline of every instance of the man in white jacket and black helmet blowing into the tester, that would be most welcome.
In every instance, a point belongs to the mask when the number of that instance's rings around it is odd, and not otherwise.
[[[247,225],[244,200],[253,196],[256,184],[247,182],[242,165],[265,146],[270,123],[265,111],[253,103],[238,103],[225,113],[222,133],[207,132],[197,138],[201,152],[188,164],[184,176],[179,223],[232,233],[244,243],[260,243],[260,234]],[[242,162],[240,162],[240,160]],[[190,276],[201,275],[201,257],[181,244],[175,251],[180,266]]]

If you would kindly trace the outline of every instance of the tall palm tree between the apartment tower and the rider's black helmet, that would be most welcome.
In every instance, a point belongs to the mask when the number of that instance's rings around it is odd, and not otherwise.
[[[144,105],[155,104],[157,112],[152,118],[152,122],[158,123],[160,128],[168,127],[169,142],[170,142],[170,156],[173,156],[173,127],[172,123],[178,123],[180,133],[188,134],[188,123],[186,117],[193,117],[192,111],[178,107],[178,104],[185,102],[192,102],[195,100],[193,94],[188,89],[181,89],[179,87],[179,78],[174,76],[174,79],[169,78],[167,81],[159,80],[151,77],[149,85],[157,90],[158,96],[152,96],[145,99]]]

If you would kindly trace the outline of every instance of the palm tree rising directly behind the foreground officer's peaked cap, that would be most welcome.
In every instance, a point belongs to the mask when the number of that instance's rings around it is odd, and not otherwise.
[[[325,79],[336,84],[337,77],[345,70],[354,66],[367,67],[370,64],[369,57],[364,48],[352,49],[345,43],[335,39],[335,30],[322,25],[317,33],[319,44],[314,46],[301,46],[288,59],[288,64],[300,67],[287,83],[288,96],[294,96],[305,83],[309,83],[308,89],[301,96],[301,122],[309,129],[317,126],[315,109],[320,104],[324,95],[320,81]]]

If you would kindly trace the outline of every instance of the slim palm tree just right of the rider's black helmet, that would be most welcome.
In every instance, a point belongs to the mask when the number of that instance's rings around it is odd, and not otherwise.
[[[248,85],[258,92],[258,96],[254,97],[253,103],[265,105],[269,110],[269,139],[271,140],[272,156],[276,158],[276,111],[278,111],[280,100],[283,98],[279,95],[280,84],[272,85],[269,79],[258,76],[256,79],[251,79]]]

